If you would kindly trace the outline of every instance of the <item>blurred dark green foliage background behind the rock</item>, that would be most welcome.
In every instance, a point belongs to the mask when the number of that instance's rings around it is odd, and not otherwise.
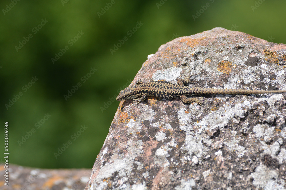
[[[113,97],[149,54],[214,27],[286,44],[285,7],[263,0],[1,1],[0,142],[8,121],[9,162],[91,168],[119,105]]]

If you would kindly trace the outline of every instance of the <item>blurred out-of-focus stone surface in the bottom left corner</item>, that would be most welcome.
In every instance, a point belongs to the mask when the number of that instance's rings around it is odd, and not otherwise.
[[[9,164],[9,186],[5,185],[4,165],[0,166],[0,189],[7,190],[82,190],[91,169],[38,169]]]

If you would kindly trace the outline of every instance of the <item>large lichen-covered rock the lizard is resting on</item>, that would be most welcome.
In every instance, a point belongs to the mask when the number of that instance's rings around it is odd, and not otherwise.
[[[286,45],[214,28],[160,46],[131,85],[286,89]],[[285,189],[286,93],[122,101],[86,189]],[[207,102],[209,101],[209,102]]]

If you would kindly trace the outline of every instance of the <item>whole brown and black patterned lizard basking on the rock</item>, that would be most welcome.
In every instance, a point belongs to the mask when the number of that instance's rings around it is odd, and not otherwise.
[[[192,75],[190,75],[192,76]],[[269,93],[285,93],[286,90],[245,90],[245,89],[212,89],[203,87],[188,87],[184,83],[190,83],[189,77],[184,80],[177,79],[178,84],[167,81],[153,81],[143,83],[139,80],[136,85],[127,87],[120,91],[117,101],[126,99],[135,99],[134,102],[143,102],[148,96],[156,96],[165,99],[180,97],[183,103],[197,103],[201,106],[198,98],[187,96],[192,95],[209,95],[209,94],[269,94]]]

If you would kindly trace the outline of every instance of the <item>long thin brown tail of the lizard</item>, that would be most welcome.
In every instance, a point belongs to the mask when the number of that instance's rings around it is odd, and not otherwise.
[[[270,94],[285,93],[286,90],[242,90],[242,89],[212,89],[193,87],[192,94]]]

